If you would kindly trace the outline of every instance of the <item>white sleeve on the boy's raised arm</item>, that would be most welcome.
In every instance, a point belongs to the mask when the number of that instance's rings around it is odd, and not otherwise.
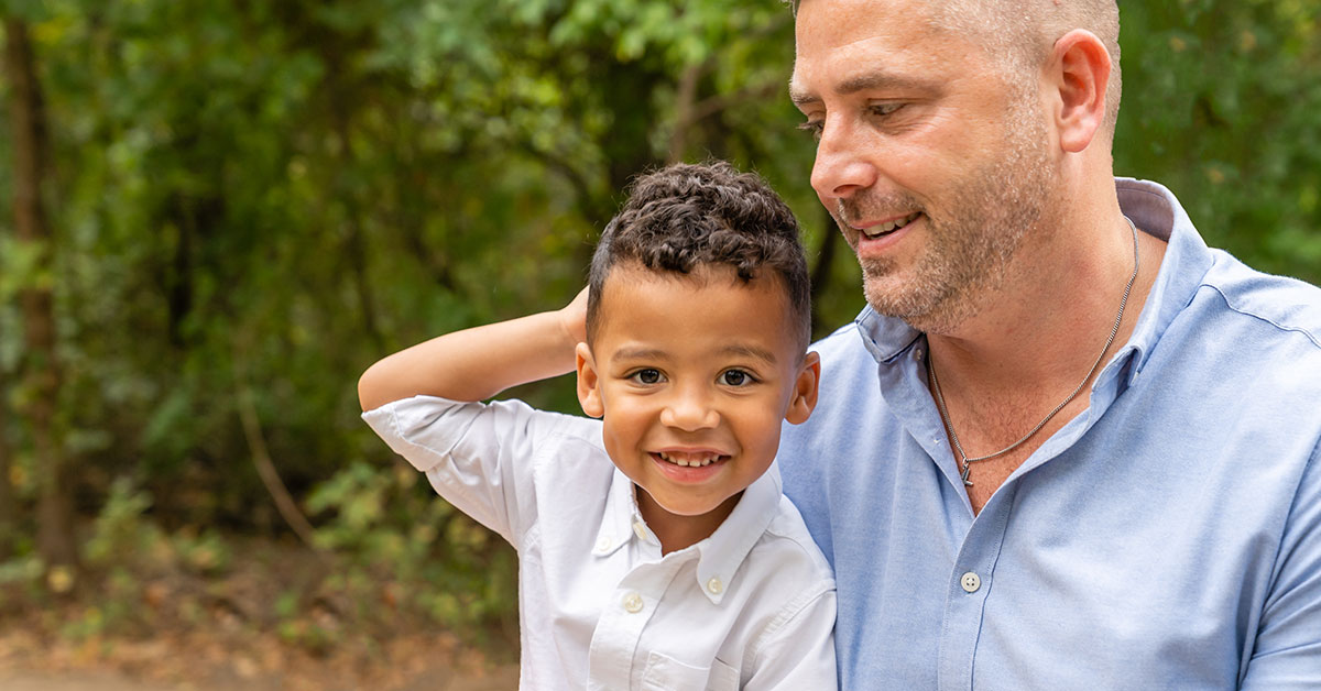
[[[536,519],[538,455],[559,447],[567,415],[520,400],[462,403],[435,396],[395,400],[362,419],[395,453],[427,473],[458,510],[519,547]]]

